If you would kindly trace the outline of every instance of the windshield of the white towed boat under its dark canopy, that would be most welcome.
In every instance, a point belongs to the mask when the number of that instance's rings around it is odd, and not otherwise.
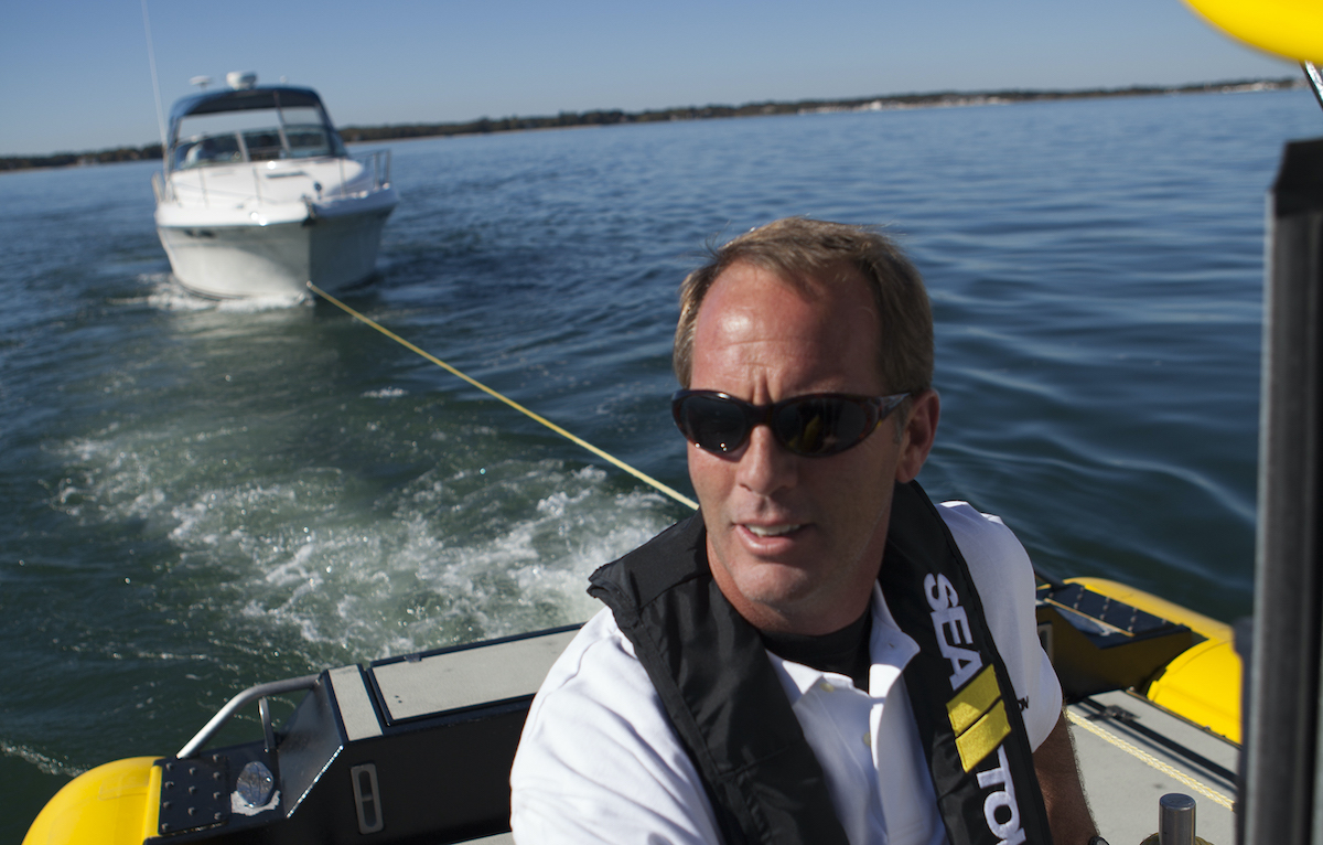
[[[179,122],[171,167],[343,156],[340,134],[311,106],[194,114]]]

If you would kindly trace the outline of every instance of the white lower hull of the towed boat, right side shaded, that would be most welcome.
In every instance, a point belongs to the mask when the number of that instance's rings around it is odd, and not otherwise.
[[[156,232],[175,278],[188,290],[221,299],[298,297],[310,281],[333,290],[372,274],[381,229],[396,205],[394,191],[381,193],[352,209],[300,205],[298,216],[266,216],[265,224],[208,225],[159,213]]]

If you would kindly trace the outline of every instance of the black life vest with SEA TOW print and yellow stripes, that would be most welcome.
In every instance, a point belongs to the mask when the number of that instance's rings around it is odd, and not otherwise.
[[[905,686],[950,840],[1050,842],[1011,678],[968,566],[917,482],[896,487],[884,560],[888,608],[919,646]],[[728,845],[847,842],[757,629],[712,577],[701,514],[590,581],[634,644]]]

